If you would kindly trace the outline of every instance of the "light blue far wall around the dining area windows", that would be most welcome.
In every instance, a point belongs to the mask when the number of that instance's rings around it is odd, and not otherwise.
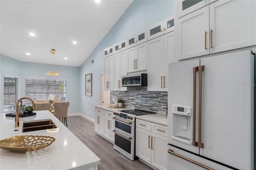
[[[66,80],[66,93],[67,101],[70,101],[70,107],[68,108],[68,113],[80,113],[79,111],[79,74],[80,67],[67,67],[56,65],[55,69],[60,73],[56,77],[46,75],[49,71],[51,65],[48,64],[38,64],[38,63],[28,63],[18,61],[16,59],[10,58],[8,56],[0,54],[0,87],[4,87],[4,76],[8,77],[18,77],[18,99],[26,96],[25,86],[26,78],[37,78],[37,79],[60,79]],[[4,100],[4,90],[0,90],[0,113],[3,113],[3,100]]]

